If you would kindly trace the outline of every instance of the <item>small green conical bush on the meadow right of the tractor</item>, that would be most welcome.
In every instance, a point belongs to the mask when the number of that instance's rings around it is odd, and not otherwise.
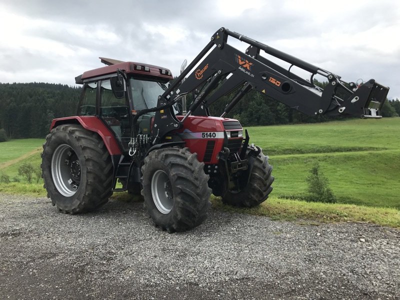
[[[326,202],[335,203],[336,197],[333,195],[332,190],[329,188],[328,179],[323,175],[319,169],[319,163],[315,162],[309,171],[306,178],[308,184],[309,197],[307,201],[312,202]]]

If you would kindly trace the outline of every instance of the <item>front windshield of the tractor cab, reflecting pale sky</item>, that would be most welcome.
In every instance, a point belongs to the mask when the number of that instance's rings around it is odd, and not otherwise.
[[[137,78],[130,79],[130,88],[135,110],[156,107],[158,96],[166,90],[162,82]]]

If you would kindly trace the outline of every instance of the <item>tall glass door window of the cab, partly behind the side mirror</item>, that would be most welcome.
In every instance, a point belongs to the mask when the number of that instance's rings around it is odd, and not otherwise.
[[[128,149],[127,143],[130,139],[129,106],[126,97],[115,97],[109,79],[101,80],[99,114],[114,132],[123,148]]]

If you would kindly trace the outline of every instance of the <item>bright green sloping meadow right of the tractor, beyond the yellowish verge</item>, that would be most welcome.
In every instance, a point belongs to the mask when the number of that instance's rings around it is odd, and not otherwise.
[[[400,118],[248,128],[269,155],[273,195],[296,198],[318,161],[342,203],[400,209]]]

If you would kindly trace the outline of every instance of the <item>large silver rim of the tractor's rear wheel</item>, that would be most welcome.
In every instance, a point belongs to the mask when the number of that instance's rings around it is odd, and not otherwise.
[[[75,151],[67,144],[59,145],[51,157],[51,175],[59,193],[74,195],[80,184],[80,162]]]

